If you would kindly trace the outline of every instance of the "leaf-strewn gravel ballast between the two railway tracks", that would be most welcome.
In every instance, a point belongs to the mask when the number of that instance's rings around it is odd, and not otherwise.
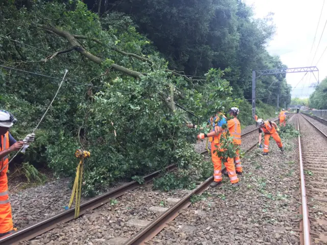
[[[299,244],[297,138],[283,141],[284,154],[271,139],[268,156],[242,159],[239,187],[224,178],[149,244]],[[186,232],[183,226],[194,229]]]

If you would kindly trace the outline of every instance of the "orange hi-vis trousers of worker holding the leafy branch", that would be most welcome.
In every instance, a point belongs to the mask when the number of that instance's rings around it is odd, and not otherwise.
[[[220,182],[223,180],[222,173],[221,173],[221,158],[217,156],[217,153],[214,153],[214,151],[220,149],[219,144],[215,144],[214,142],[211,143],[211,159],[214,163],[214,181]],[[230,182],[233,183],[238,183],[239,178],[237,177],[236,171],[235,171],[235,165],[234,165],[234,159],[228,158],[227,162],[225,163],[228,177]]]

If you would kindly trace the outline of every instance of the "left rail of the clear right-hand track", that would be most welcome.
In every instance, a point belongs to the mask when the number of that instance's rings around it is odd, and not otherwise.
[[[303,116],[302,116],[303,117]],[[304,118],[304,117],[303,117]],[[300,132],[300,124],[297,116],[297,129]],[[310,245],[310,224],[309,224],[309,215],[308,215],[308,205],[307,205],[307,192],[306,192],[306,180],[303,170],[302,162],[302,149],[301,149],[301,137],[298,135],[298,151],[300,157],[300,187],[301,187],[301,203],[302,203],[302,225],[303,225],[303,244]]]

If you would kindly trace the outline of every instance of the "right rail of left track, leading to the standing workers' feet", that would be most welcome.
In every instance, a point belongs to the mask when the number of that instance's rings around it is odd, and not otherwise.
[[[245,153],[251,151],[257,144],[258,142],[253,144],[249,149],[245,151]],[[224,169],[222,170],[222,173]],[[167,226],[168,222],[171,222],[179,215],[180,210],[187,208],[188,206],[191,205],[191,198],[193,195],[201,194],[204,190],[206,190],[209,187],[209,185],[212,183],[213,180],[214,180],[213,176],[206,179],[195,190],[187,194],[184,198],[179,200],[174,206],[170,207],[167,211],[165,211],[164,213],[159,215],[156,219],[154,219],[149,225],[147,225],[145,228],[143,228],[141,231],[137,232],[133,237],[127,240],[124,243],[124,245],[144,244],[145,242],[155,237],[160,231],[162,231]]]

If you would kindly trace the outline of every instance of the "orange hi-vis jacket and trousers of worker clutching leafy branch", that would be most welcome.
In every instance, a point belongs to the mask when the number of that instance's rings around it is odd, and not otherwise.
[[[224,117],[226,118],[224,115],[220,114],[219,115],[221,118]],[[218,117],[218,116],[217,116]],[[219,119],[219,118],[218,118]],[[216,119],[216,121],[218,121]],[[215,127],[215,125],[213,125]],[[220,182],[223,180],[222,178],[222,173],[221,173],[221,158],[218,157],[217,153],[214,153],[214,151],[218,150],[218,151],[223,151],[223,149],[220,148],[220,137],[222,133],[226,133],[226,130],[223,130],[223,132],[219,133],[218,135],[215,135],[214,137],[210,137],[209,141],[211,141],[211,159],[214,163],[214,181],[216,182]],[[236,171],[235,171],[235,165],[233,162],[233,159],[229,159],[229,161],[227,161],[225,163],[225,167],[227,169],[227,173],[228,173],[228,177],[230,182],[233,183],[238,183],[239,182],[239,178],[237,177]]]

